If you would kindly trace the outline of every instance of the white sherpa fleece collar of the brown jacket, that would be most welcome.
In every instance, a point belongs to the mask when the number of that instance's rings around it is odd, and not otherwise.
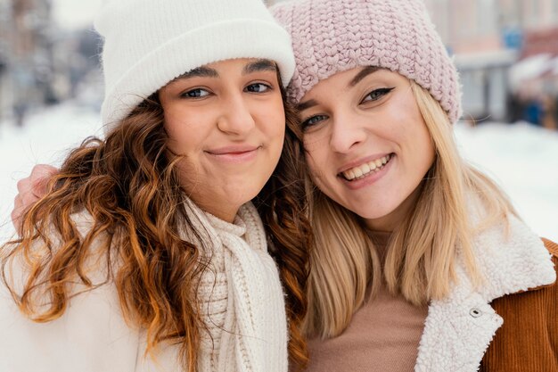
[[[506,231],[508,235],[506,235]],[[432,301],[419,345],[415,372],[473,372],[503,319],[488,304],[556,280],[552,256],[520,220],[481,232],[473,249],[485,282],[473,288],[460,261],[458,283],[443,301]]]

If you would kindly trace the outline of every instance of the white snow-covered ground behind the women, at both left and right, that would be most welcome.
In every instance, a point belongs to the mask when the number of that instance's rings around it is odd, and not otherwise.
[[[529,226],[558,241],[558,132],[483,123],[459,124],[455,134],[464,156],[496,179]],[[17,180],[36,163],[59,165],[68,149],[91,135],[102,135],[99,114],[71,104],[37,112],[24,128],[0,123],[0,241],[13,232]]]

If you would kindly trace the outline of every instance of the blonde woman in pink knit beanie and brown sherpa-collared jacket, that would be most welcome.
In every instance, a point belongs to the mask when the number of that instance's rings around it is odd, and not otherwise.
[[[308,371],[557,372],[558,246],[458,153],[459,81],[423,2],[272,12],[310,173]]]

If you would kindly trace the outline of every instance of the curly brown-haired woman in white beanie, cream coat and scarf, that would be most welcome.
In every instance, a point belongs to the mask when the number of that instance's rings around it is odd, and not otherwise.
[[[95,29],[105,138],[70,153],[2,247],[0,370],[303,364],[290,37],[260,0],[114,0]]]

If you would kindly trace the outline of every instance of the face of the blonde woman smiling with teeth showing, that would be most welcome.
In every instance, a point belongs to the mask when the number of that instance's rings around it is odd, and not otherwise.
[[[316,186],[372,229],[392,231],[434,161],[410,81],[373,67],[347,70],[320,81],[299,108]]]

